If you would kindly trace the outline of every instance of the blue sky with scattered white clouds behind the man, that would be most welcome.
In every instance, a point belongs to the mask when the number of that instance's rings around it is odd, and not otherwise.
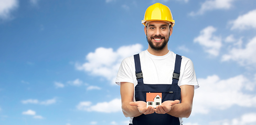
[[[0,0],[0,124],[127,124],[114,79],[147,49],[141,20],[156,2],[200,85],[184,125],[256,124],[253,0]]]

